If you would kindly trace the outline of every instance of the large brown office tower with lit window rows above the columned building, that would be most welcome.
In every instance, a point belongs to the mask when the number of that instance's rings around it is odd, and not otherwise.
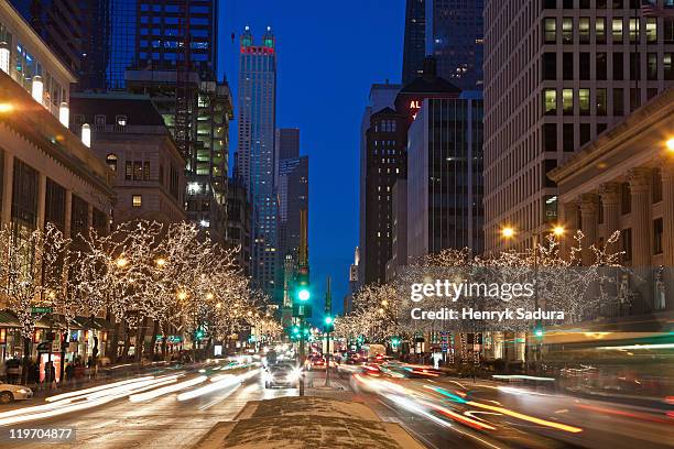
[[[674,4],[657,0],[646,15],[640,6],[487,1],[487,251],[509,244],[503,226],[522,248],[556,223],[557,189],[546,173],[674,84]]]

